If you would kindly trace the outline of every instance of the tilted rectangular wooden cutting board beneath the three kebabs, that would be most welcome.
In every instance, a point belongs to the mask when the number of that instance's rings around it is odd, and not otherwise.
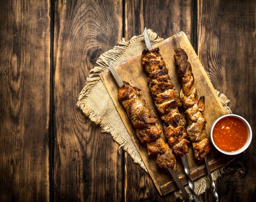
[[[198,56],[195,53],[195,50],[193,49],[191,43],[189,42],[186,34],[184,32],[180,32],[178,33],[178,36],[179,36],[180,45],[182,49],[184,49],[187,55],[189,56],[188,60],[191,63],[192,72],[195,77],[195,86],[198,89],[198,97],[202,95],[205,96],[206,108],[204,111],[204,116],[205,116],[205,119],[207,120],[206,131],[209,138],[209,131],[210,131],[211,124],[218,117],[225,115],[226,112],[224,107],[222,107],[222,104],[220,103],[220,100],[216,94],[216,91],[214,90],[213,85],[211,84],[211,81],[209,80],[207,73],[205,72],[204,67],[202,66],[200,60],[198,59]],[[173,84],[175,86],[177,93],[179,93],[181,89],[181,85],[177,80],[177,75],[175,72],[175,61],[173,57],[173,55],[175,54],[174,49],[177,47],[176,36],[167,38],[166,40],[153,46],[153,48],[156,48],[156,47],[159,47],[160,53],[166,63],[166,67],[169,69],[168,73],[171,77],[171,80],[173,81]],[[157,111],[153,104],[153,100],[150,95],[150,90],[148,88],[146,72],[144,71],[141,64],[141,53],[132,56],[131,58],[122,62],[121,64],[116,65],[115,68],[117,69],[117,72],[119,73],[122,80],[129,82],[132,86],[135,86],[142,90],[141,98],[146,100],[147,107],[150,109],[154,109],[157,114]],[[139,143],[139,140],[135,133],[135,128],[130,122],[124,107],[122,106],[121,102],[117,98],[118,86],[114,78],[112,78],[112,75],[109,69],[107,69],[106,71],[103,71],[100,74],[100,77],[112,101],[114,102],[115,107],[117,108],[117,111],[135,144],[135,147],[137,148],[139,154],[141,155],[141,158],[144,164],[146,165],[146,168],[148,169],[148,173],[153,179],[153,182],[155,183],[155,186],[157,187],[157,190],[159,191],[159,193],[161,195],[165,195],[177,189],[177,185],[173,181],[173,178],[171,177],[171,175],[169,173],[159,172],[156,165],[156,159],[149,158],[147,155],[146,147]],[[159,116],[158,116],[158,122],[161,123]],[[166,140],[163,134],[162,134],[162,138]],[[226,155],[222,155],[216,149],[214,149],[213,146],[211,147],[211,152],[207,155],[207,157],[209,160],[211,171],[217,169],[221,165],[226,164],[227,162],[236,158],[235,156],[228,157]],[[177,159],[177,175],[179,176],[183,184],[187,184],[188,182],[187,182],[187,178],[186,178],[181,160],[180,158],[176,158],[176,159]],[[189,153],[187,154],[187,159],[189,162],[189,167],[191,169],[191,178],[193,180],[198,179],[201,176],[207,174],[205,164],[203,162],[198,162],[197,160],[194,159],[193,149],[191,145],[189,148]]]

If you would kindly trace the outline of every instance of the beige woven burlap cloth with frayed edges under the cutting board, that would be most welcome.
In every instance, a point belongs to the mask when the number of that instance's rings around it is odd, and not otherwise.
[[[148,30],[148,34],[152,45],[164,40],[150,29]],[[126,130],[126,127],[124,126],[110,98],[110,95],[99,77],[99,73],[105,69],[108,69],[110,61],[112,61],[114,65],[118,64],[124,60],[127,60],[132,55],[141,53],[141,51],[145,48],[146,46],[143,36],[133,36],[128,42],[126,42],[123,38],[113,49],[100,55],[96,62],[98,66],[91,70],[91,74],[86,79],[85,87],[79,95],[77,106],[81,108],[83,113],[85,113],[90,120],[96,124],[100,124],[103,132],[110,133],[112,138],[120,144],[119,149],[122,147],[125,151],[127,151],[134,162],[138,163],[147,172],[147,169]],[[216,92],[218,93],[220,101],[225,107],[227,113],[231,113],[229,107],[227,107],[229,99],[220,92]],[[211,173],[213,180],[216,180],[224,172],[224,166],[213,171]],[[209,189],[209,187],[209,178],[206,176],[195,181],[195,192],[199,195],[204,193],[207,189]],[[188,186],[185,188],[188,191]],[[174,194],[176,198],[182,198],[180,191],[175,191]]]

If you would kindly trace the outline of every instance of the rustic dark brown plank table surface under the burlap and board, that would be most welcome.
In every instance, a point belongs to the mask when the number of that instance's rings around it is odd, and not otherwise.
[[[1,1],[0,201],[175,201],[76,107],[85,78],[122,37],[176,22],[255,133],[255,16],[255,0]],[[255,200],[254,144],[217,180],[220,201]]]

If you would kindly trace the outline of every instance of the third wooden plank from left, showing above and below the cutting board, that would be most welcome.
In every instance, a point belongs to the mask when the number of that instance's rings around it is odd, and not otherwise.
[[[175,22],[189,39],[192,38],[192,0],[126,0],[125,1],[125,37],[129,40],[140,35],[144,27],[152,29],[159,36],[168,38],[173,35]],[[157,189],[150,175],[135,164],[129,155],[125,155],[125,198],[127,201],[175,201],[173,194],[164,198]],[[139,179],[139,180],[138,180]]]

